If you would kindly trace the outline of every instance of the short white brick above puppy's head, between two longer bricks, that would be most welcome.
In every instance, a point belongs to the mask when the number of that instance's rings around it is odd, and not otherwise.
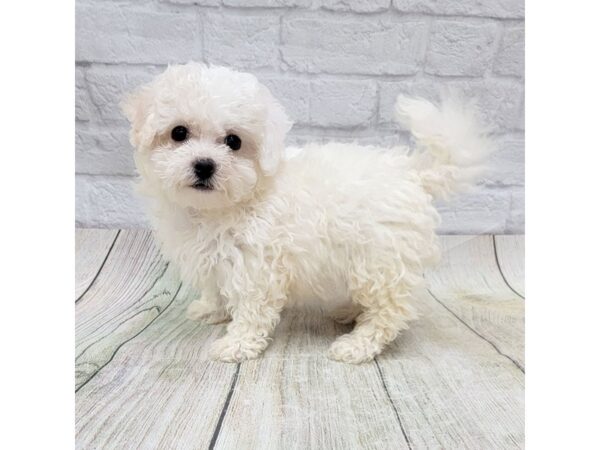
[[[204,20],[207,62],[241,69],[278,67],[278,16],[211,12]]]

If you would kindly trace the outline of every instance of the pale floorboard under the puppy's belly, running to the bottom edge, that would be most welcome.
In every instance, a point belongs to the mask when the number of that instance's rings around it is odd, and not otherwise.
[[[376,365],[326,357],[350,329],[286,311],[264,356],[241,364],[215,448],[408,448]]]

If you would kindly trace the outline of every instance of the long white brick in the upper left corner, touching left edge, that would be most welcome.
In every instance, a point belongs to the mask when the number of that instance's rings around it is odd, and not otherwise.
[[[76,7],[78,61],[166,64],[202,57],[195,11],[149,11],[104,3]]]

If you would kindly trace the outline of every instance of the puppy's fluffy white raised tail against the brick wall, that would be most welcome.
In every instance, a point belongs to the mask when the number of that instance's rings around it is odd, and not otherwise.
[[[396,118],[417,142],[415,164],[423,187],[436,198],[469,188],[484,172],[493,143],[476,115],[473,103],[456,96],[448,96],[439,107],[423,99],[396,100]]]

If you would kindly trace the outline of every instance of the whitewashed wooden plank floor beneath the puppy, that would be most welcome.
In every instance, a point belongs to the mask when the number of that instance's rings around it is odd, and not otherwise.
[[[350,327],[288,311],[262,358],[224,364],[149,232],[77,230],[77,448],[522,448],[523,237],[442,243],[423,317],[374,362],[328,360]]]

